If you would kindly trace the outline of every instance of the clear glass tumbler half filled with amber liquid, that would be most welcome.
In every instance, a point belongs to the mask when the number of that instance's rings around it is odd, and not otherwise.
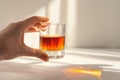
[[[40,49],[50,59],[65,55],[65,23],[51,23],[45,31],[40,30]]]

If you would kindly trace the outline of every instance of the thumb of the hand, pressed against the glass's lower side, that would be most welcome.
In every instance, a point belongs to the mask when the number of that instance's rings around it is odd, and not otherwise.
[[[46,53],[42,52],[40,49],[34,49],[34,48],[30,48],[30,47],[26,46],[24,48],[24,50],[25,50],[25,52],[24,52],[25,56],[37,57],[46,62],[49,60],[48,55]]]

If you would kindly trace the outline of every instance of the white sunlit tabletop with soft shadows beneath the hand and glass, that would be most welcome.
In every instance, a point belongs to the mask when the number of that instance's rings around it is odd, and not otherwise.
[[[62,59],[42,62],[21,57],[0,62],[1,80],[120,80],[120,50],[67,49]],[[69,73],[67,69],[102,70],[102,79],[85,73]],[[99,76],[100,78],[100,76]]]

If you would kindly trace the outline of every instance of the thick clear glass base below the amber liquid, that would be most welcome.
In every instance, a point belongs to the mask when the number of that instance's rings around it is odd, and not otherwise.
[[[59,58],[63,58],[65,51],[64,50],[60,50],[60,51],[45,51],[50,59],[59,59]]]

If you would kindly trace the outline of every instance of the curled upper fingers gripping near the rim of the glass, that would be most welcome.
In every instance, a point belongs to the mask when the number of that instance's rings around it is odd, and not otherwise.
[[[48,21],[49,19],[46,17],[39,17],[39,16],[30,17],[22,21],[23,23],[22,30],[24,30],[25,32],[33,32],[33,31],[36,31],[37,28],[38,29],[45,28],[46,26],[50,24],[48,23]],[[36,27],[36,28],[31,28],[31,27]]]

